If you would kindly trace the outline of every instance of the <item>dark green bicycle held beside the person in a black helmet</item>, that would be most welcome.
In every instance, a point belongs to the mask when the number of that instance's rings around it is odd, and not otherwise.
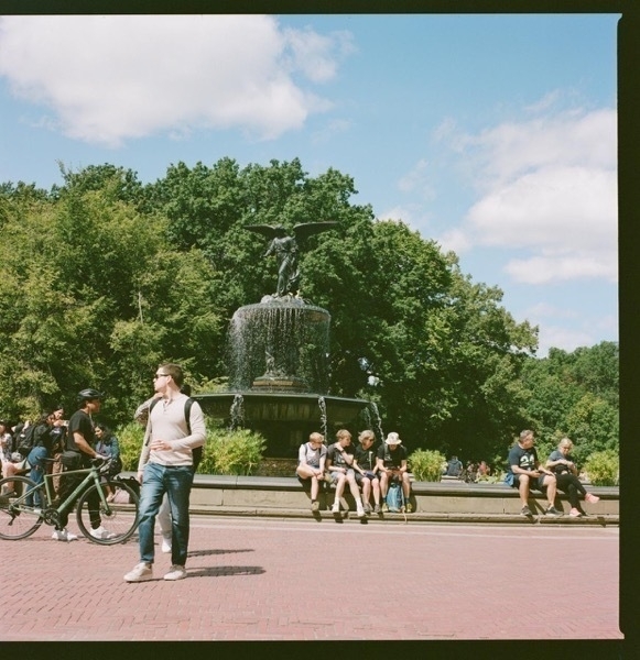
[[[45,459],[52,461],[52,459]],[[72,512],[77,499],[76,519],[80,531],[94,543],[100,546],[113,546],[122,543],[131,537],[138,527],[138,494],[118,477],[107,476],[111,459],[105,461],[98,459],[91,462],[90,468],[69,470],[58,474],[45,474],[44,482],[35,484],[25,476],[8,476],[0,480],[0,539],[17,541],[25,539],[35,532],[40,526],[58,525],[59,516],[65,512]],[[85,474],[85,479],[64,499],[56,501],[53,494],[53,479],[59,476],[65,479],[69,475]],[[8,488],[11,492],[7,492]],[[117,504],[109,502],[107,492],[120,488],[129,494],[129,504]],[[2,494],[6,493],[6,494]],[[36,502],[34,495],[40,495],[40,506],[28,505],[28,502]],[[91,536],[89,517],[89,502],[99,503],[99,514],[109,528],[108,538],[96,538]]]

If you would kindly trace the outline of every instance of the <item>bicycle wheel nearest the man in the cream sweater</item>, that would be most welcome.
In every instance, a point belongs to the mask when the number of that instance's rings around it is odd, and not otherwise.
[[[129,494],[129,503],[106,502],[108,487],[111,492],[115,492],[116,487],[126,491]],[[120,482],[117,484],[115,482],[102,483],[100,484],[100,491],[101,493],[94,485],[80,495],[76,510],[78,527],[90,541],[100,546],[123,543],[138,527],[138,495],[127,484]],[[93,501],[98,504],[100,527],[106,530],[106,534],[98,536],[91,534],[89,503]]]

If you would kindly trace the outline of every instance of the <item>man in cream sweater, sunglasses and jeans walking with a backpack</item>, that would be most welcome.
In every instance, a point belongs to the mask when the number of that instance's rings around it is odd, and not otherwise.
[[[153,578],[153,530],[155,517],[167,494],[172,519],[171,569],[165,580],[186,578],[189,536],[189,494],[193,484],[193,450],[205,443],[206,428],[202,408],[194,402],[189,424],[185,419],[186,394],[177,364],[161,364],[154,376],[154,389],[161,395],[147,422],[144,442],[138,462],[140,493],[140,563],[124,575],[126,582],[142,582]],[[191,433],[189,429],[191,428]]]

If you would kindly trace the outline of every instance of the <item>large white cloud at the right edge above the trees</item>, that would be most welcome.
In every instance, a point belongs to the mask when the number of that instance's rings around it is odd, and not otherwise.
[[[557,98],[553,92],[529,111],[549,111]],[[451,232],[462,245],[524,251],[505,267],[522,283],[617,282],[614,110],[563,111],[478,135],[447,121],[437,134],[460,151],[479,193]]]

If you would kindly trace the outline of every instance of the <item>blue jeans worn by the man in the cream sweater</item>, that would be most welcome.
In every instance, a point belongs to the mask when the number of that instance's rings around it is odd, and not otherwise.
[[[188,498],[193,483],[191,465],[169,468],[156,463],[147,463],[142,475],[140,492],[140,561],[153,563],[153,530],[155,516],[160,510],[162,497],[167,494],[171,507],[171,563],[178,566],[186,564],[188,548]]]

